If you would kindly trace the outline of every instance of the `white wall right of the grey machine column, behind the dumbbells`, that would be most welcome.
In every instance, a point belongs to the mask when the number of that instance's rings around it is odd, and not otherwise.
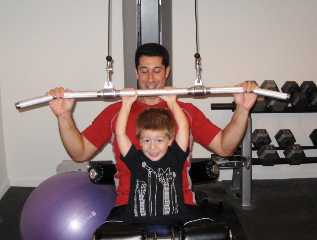
[[[173,1],[173,82],[194,84],[196,52],[194,1]],[[198,41],[201,78],[205,86],[232,86],[244,80],[313,80],[317,84],[317,2],[316,1],[197,1]],[[231,111],[211,111],[210,103],[231,103],[233,98],[212,97],[186,100],[218,126],[225,127]],[[253,126],[267,129],[272,144],[279,129],[291,129],[297,142],[312,145],[309,134],[317,128],[317,113],[252,114]],[[227,119],[227,120],[226,120]],[[306,150],[317,156],[316,150]],[[194,157],[208,155],[194,146]],[[256,152],[253,152],[256,156]],[[279,151],[280,157],[284,157]],[[257,157],[257,156],[256,156]],[[254,179],[316,177],[316,164],[253,167]],[[231,171],[221,171],[221,178]]]

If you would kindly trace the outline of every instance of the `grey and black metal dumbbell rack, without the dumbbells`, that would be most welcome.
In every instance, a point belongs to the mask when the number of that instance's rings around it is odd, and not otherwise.
[[[235,102],[225,103],[225,104],[210,104],[211,110],[236,110]],[[309,113],[317,112],[316,109],[308,106],[305,110],[296,110],[294,107],[288,106],[283,111],[274,113]],[[245,166],[238,169],[233,169],[232,172],[232,185],[230,187],[233,194],[239,194],[241,196],[241,207],[244,210],[253,209],[252,205],[252,165],[262,165],[259,158],[252,158],[252,151],[258,150],[259,148],[252,147],[252,118],[251,113],[273,113],[271,109],[267,106],[262,112],[252,112],[250,111],[247,129],[245,135],[241,142],[241,148],[238,148],[238,154],[249,156],[250,161],[249,169]],[[301,146],[303,150],[305,149],[317,149],[316,146]],[[276,150],[285,150],[282,147],[276,147]],[[306,157],[302,163],[317,163],[317,157]],[[288,164],[286,158],[279,158],[275,164]],[[221,169],[221,167],[219,167]],[[238,196],[238,195],[237,195]]]

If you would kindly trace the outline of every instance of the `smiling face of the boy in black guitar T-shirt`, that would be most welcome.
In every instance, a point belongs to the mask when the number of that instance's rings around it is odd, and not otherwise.
[[[151,161],[159,161],[166,154],[172,141],[173,139],[168,139],[164,131],[142,130],[140,134],[142,152]]]

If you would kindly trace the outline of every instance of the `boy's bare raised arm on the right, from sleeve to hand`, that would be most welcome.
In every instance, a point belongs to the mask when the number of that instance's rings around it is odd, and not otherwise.
[[[165,87],[165,89],[172,89],[175,87]],[[175,136],[175,140],[178,143],[179,147],[182,148],[184,152],[186,152],[188,147],[188,139],[189,139],[189,126],[187,118],[180,108],[176,101],[176,95],[169,96],[159,96],[162,98],[170,108],[172,114],[174,115],[175,121],[178,126],[178,131]]]

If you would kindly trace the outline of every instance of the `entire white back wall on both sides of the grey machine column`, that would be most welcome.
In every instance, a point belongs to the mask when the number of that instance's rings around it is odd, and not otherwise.
[[[18,101],[65,86],[74,91],[101,90],[107,49],[107,1],[0,0],[0,79],[5,155],[11,186],[36,186],[69,159],[57,120],[48,106],[18,111]],[[121,1],[112,1],[112,81],[123,88]],[[317,83],[315,1],[197,1],[201,77],[205,86],[232,86],[243,80]],[[133,40],[132,40],[133,41]],[[173,1],[173,85],[191,87],[196,79],[194,1]],[[131,70],[132,71],[132,70]],[[232,98],[182,98],[225,127],[231,111],[211,111],[210,103]],[[80,130],[113,101],[79,101],[74,118]],[[312,145],[316,114],[253,114],[254,128],[266,128],[273,140],[290,128],[298,143]],[[305,151],[317,156],[316,150]],[[254,152],[254,154],[256,154]],[[194,157],[210,152],[194,145]],[[280,156],[283,156],[280,153]],[[111,160],[109,144],[94,160]],[[254,166],[253,178],[316,177],[316,164]],[[221,173],[230,179],[231,171]],[[1,185],[1,184],[0,184]]]

